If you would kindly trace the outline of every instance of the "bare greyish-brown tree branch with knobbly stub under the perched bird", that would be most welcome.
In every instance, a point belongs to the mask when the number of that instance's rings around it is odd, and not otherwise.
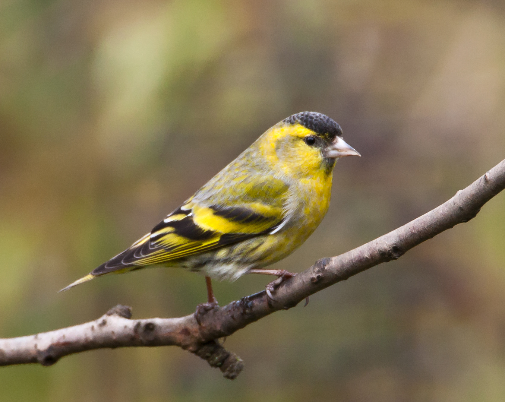
[[[375,240],[340,256],[318,260],[309,269],[287,279],[274,293],[265,291],[216,307],[200,317],[132,320],[131,309],[116,306],[98,320],[56,331],[0,339],[0,366],[40,363],[50,366],[63,356],[84,350],[123,346],[176,345],[219,367],[225,378],[242,370],[239,357],[217,339],[375,265],[396,260],[412,247],[468,222],[480,208],[505,188],[505,160],[439,207]]]

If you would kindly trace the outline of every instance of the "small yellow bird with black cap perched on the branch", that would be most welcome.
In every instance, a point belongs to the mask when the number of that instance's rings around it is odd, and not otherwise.
[[[236,280],[247,273],[278,279],[284,270],[264,269],[291,254],[328,211],[337,158],[361,156],[342,139],[340,126],[316,112],[277,123],[234,161],[124,252],[79,283],[146,267],[180,267],[211,278]]]

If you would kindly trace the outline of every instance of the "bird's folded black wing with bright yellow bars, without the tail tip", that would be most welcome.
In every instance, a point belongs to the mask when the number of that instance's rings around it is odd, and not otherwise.
[[[123,253],[94,269],[92,275],[131,270],[199,254],[267,234],[282,224],[278,203],[206,205],[190,198]]]

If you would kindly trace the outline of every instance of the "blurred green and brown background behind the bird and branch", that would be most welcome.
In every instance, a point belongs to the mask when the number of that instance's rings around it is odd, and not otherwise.
[[[335,119],[301,271],[432,209],[505,157],[501,0],[0,2],[0,336],[190,314],[152,269],[57,291],[149,231],[263,131]],[[502,401],[505,195],[476,219],[229,337],[235,381],[176,347],[0,368],[10,401]],[[270,278],[216,283],[221,304]]]

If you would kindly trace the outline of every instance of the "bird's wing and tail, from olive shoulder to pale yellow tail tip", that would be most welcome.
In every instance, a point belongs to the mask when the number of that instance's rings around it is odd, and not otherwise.
[[[240,191],[234,189],[234,183],[229,184],[228,197],[222,197],[219,191],[208,196],[203,187],[199,190],[203,199],[189,198],[124,252],[62,290],[99,275],[170,265],[179,259],[275,232],[283,226],[287,220],[283,208],[285,183],[275,178],[248,186],[242,182]]]

